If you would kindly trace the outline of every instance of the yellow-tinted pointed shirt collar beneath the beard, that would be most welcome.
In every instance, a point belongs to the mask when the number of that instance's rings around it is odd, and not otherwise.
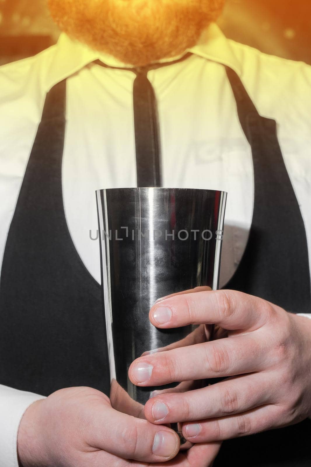
[[[48,90],[98,59],[110,66],[134,68],[133,65],[122,63],[111,55],[90,49],[87,45],[71,39],[65,33],[60,35],[53,50],[54,54],[52,54],[50,66],[46,70]],[[206,28],[200,36],[198,43],[194,47],[185,50],[184,54],[188,52],[226,65],[232,68],[239,76],[241,75],[241,66],[234,54],[230,41],[226,39],[215,23]],[[178,57],[159,60],[159,63],[169,63],[183,57],[184,54]]]

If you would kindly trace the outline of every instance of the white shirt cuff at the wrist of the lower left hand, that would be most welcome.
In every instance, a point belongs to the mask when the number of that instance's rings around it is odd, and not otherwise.
[[[0,384],[0,467],[18,467],[17,433],[29,405],[45,397]]]

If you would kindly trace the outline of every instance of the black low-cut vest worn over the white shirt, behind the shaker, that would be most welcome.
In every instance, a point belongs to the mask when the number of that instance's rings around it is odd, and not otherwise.
[[[226,72],[252,147],[255,187],[247,248],[226,288],[291,312],[310,312],[306,233],[276,122],[261,117],[240,78]],[[7,237],[0,280],[0,383],[42,395],[82,385],[109,394],[101,288],[81,261],[64,214],[65,96],[66,81],[47,94]],[[215,467],[229,462],[310,467],[310,440],[306,420],[226,441]]]

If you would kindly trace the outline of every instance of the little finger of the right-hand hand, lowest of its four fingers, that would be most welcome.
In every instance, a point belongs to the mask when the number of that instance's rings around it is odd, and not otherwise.
[[[240,438],[276,428],[281,410],[276,405],[268,404],[239,415],[184,423],[183,435],[191,443]]]

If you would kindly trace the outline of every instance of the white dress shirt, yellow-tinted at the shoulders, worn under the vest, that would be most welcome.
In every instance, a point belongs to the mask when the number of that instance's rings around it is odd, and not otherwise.
[[[215,24],[187,51],[189,59],[148,73],[158,103],[163,186],[228,192],[220,286],[245,250],[254,200],[251,149],[223,65],[240,76],[259,113],[277,122],[311,263],[311,67],[227,40]],[[67,78],[64,209],[77,252],[100,282],[99,242],[90,239],[98,228],[95,190],[136,186],[135,75],[103,68],[97,59],[130,66],[63,34],[38,56],[0,68],[0,264],[45,95]],[[39,397],[0,387],[0,467],[17,466],[17,428]]]

